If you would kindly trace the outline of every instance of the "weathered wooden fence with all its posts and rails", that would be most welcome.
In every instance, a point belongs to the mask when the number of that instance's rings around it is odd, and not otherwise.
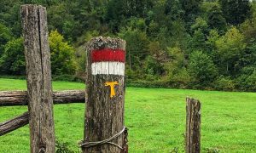
[[[26,55],[26,91],[0,92],[0,106],[28,105],[0,123],[0,136],[29,123],[31,152],[55,152],[53,105],[84,103],[83,152],[128,152],[125,110],[125,41],[96,37],[87,47],[86,92],[52,92],[46,9],[20,7]],[[86,95],[86,96],[85,96]],[[200,152],[201,105],[187,99],[186,152]]]

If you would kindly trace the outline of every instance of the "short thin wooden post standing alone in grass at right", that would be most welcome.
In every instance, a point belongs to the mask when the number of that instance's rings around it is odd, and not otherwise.
[[[186,153],[199,153],[201,150],[201,103],[196,99],[186,99]]]

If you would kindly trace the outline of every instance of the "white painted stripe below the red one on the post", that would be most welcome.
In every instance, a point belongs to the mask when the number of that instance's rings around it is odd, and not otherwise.
[[[91,64],[91,74],[106,74],[125,76],[125,63],[123,62],[96,62]]]

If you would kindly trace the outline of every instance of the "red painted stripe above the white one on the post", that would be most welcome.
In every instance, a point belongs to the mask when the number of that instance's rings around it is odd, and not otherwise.
[[[93,50],[91,53],[92,62],[119,61],[125,62],[125,51],[122,49],[103,48]]]

